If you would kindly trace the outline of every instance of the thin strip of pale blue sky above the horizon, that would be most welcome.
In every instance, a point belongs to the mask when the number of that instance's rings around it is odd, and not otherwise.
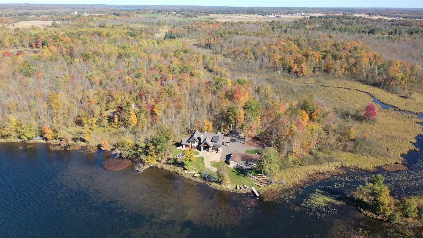
[[[423,8],[423,0],[1,0],[0,3]]]

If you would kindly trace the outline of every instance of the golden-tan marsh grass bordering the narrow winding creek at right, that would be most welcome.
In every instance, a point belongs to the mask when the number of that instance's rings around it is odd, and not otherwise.
[[[304,98],[312,98],[314,101],[334,109],[335,112],[346,107],[352,107],[354,110],[363,110],[366,105],[372,102],[371,96],[357,90],[374,94],[380,101],[392,104],[392,106],[400,109],[414,112],[420,112],[423,109],[423,107],[419,106],[420,103],[423,105],[423,97],[422,102],[420,102],[420,99],[404,99],[382,89],[363,85],[360,82],[319,78],[277,78],[279,80],[273,79],[274,82],[272,83],[278,89],[282,98],[287,98],[294,102],[302,101]],[[310,84],[304,84],[299,82],[299,80],[302,82],[307,81]],[[320,86],[317,83],[330,87]],[[346,88],[357,90],[348,90]],[[416,98],[418,94],[415,93],[413,96]],[[395,100],[392,98],[395,98]],[[415,147],[412,143],[416,142],[415,137],[418,134],[422,134],[423,126],[417,124],[422,120],[415,115],[382,109],[379,105],[377,107],[378,115],[373,122],[341,117],[341,120],[345,123],[354,123],[357,130],[355,136],[358,139],[363,140],[363,137],[368,137],[376,141],[368,144],[369,146],[378,147],[374,148],[374,150],[371,149],[372,153],[355,154],[338,149],[331,150],[327,153],[330,156],[334,156],[336,160],[324,164],[286,167],[277,172],[275,180],[288,188],[307,181],[310,175],[333,172],[338,167],[374,170],[375,167],[379,166],[401,164],[401,155],[407,154],[409,150],[414,149]]]

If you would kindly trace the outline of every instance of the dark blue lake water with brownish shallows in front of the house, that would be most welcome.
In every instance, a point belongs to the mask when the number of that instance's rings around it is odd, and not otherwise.
[[[404,237],[403,228],[354,207],[308,202],[321,192],[342,200],[371,172],[346,169],[346,175],[263,202],[155,167],[142,174],[106,171],[102,151],[52,151],[44,143],[0,146],[0,237]],[[393,196],[423,195],[423,139],[415,146],[421,150],[403,156],[409,170],[379,169]]]

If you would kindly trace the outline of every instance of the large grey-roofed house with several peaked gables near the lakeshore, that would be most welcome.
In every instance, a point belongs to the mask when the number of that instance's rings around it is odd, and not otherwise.
[[[222,146],[228,146],[230,142],[231,137],[223,136],[220,131],[217,131],[217,133],[207,133],[206,131],[200,132],[196,130],[190,137],[182,137],[181,145],[182,148],[191,146],[200,151],[205,150],[208,152],[220,153],[222,151]]]

